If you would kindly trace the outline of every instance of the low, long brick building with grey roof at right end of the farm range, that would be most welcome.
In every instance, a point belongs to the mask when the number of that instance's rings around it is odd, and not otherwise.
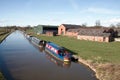
[[[110,42],[112,41],[111,33],[104,32],[104,29],[80,29],[77,39],[98,41],[98,42]]]

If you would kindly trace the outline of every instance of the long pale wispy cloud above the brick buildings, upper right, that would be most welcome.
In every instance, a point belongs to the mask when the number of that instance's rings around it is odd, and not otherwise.
[[[115,11],[106,8],[94,8],[90,7],[85,12],[97,13],[97,14],[120,14],[120,11]]]

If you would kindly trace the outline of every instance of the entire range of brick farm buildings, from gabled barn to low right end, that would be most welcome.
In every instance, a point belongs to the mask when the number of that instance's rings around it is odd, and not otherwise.
[[[80,40],[111,42],[117,32],[111,28],[81,27],[80,25],[62,24],[58,27],[59,35],[76,37]]]

